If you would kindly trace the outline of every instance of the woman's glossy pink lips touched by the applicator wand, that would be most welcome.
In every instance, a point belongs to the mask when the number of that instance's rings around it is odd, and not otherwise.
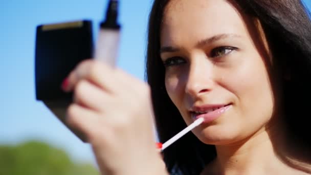
[[[191,108],[190,114],[193,120],[203,117],[204,122],[208,123],[220,117],[221,114],[225,113],[231,106],[231,103],[194,106]]]

